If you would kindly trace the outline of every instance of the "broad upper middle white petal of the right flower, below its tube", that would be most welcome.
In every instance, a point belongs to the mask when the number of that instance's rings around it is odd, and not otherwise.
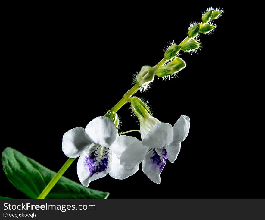
[[[168,123],[158,123],[156,124],[145,136],[142,141],[142,145],[161,148],[173,141],[173,129],[171,124]]]

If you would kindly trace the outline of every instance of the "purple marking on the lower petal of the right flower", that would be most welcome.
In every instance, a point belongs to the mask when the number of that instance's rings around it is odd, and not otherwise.
[[[153,155],[150,157],[152,168],[157,171],[162,171],[167,162],[167,151],[165,147],[154,148]]]

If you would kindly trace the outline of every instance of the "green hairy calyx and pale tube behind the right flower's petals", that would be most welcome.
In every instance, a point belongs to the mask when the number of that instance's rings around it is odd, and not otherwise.
[[[149,108],[139,98],[130,97],[129,102],[131,103],[133,112],[140,122],[140,132],[141,138],[143,140],[148,132],[152,129],[152,127],[154,127],[154,125],[156,125],[157,123],[160,123],[160,121],[152,116]]]

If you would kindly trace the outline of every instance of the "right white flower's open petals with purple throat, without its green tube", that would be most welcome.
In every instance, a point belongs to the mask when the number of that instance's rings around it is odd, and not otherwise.
[[[190,118],[181,115],[172,127],[168,123],[158,123],[142,137],[132,143],[120,156],[120,164],[133,170],[142,162],[143,172],[155,183],[160,183],[160,174],[168,159],[173,163],[179,154],[180,144],[189,133]]]

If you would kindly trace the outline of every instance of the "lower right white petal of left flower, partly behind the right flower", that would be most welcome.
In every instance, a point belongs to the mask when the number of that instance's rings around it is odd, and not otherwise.
[[[111,152],[110,161],[109,175],[114,179],[123,180],[135,174],[139,170],[139,165],[133,170],[126,170],[122,165],[120,165],[120,159],[114,152]]]

